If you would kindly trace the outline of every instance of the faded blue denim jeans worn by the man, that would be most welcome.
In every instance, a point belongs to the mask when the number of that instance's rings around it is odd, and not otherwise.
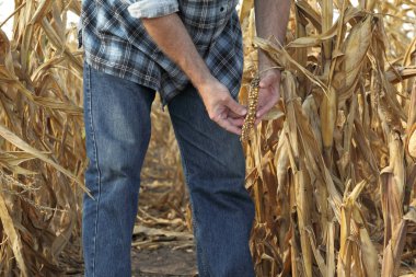
[[[83,93],[85,184],[94,197],[83,197],[85,276],[131,276],[131,235],[155,92],[85,62]],[[253,277],[254,205],[244,187],[239,137],[209,119],[192,85],[167,107],[189,191],[199,276]]]

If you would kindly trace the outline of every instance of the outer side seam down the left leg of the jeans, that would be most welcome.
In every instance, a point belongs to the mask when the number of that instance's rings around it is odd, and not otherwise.
[[[92,254],[92,276],[95,276],[95,256],[96,256],[96,234],[99,232],[99,205],[100,205],[100,197],[101,197],[101,171],[99,166],[99,154],[97,154],[97,148],[95,142],[95,131],[94,131],[94,124],[93,124],[93,115],[92,115],[92,93],[91,93],[91,69],[88,67],[88,100],[89,100],[89,115],[90,115],[90,129],[91,129],[91,142],[93,146],[93,153],[94,153],[94,163],[97,172],[96,176],[96,183],[99,185],[99,195],[96,197],[96,209],[95,209],[95,222],[94,222],[94,234],[93,234],[93,254]]]

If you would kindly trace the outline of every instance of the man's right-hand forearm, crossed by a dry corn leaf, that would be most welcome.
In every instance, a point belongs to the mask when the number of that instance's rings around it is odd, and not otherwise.
[[[286,30],[290,13],[290,0],[256,0],[256,31],[262,38],[275,37],[281,45],[285,44]],[[259,70],[273,66],[267,56],[259,50]]]

